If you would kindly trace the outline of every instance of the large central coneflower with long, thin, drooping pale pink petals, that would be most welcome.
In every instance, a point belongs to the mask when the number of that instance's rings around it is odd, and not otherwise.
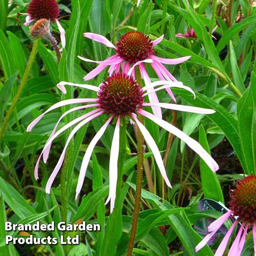
[[[38,179],[38,166],[41,159],[41,156],[43,156],[43,160],[46,163],[47,158],[49,156],[50,146],[53,140],[59,136],[59,134],[63,133],[65,130],[73,126],[74,124],[78,123],[75,128],[73,128],[72,132],[70,133],[68,140],[64,146],[64,150],[62,154],[60,155],[60,158],[58,160],[57,165],[55,166],[55,169],[53,170],[52,174],[50,175],[50,178],[46,184],[46,193],[50,193],[50,187],[56,177],[56,175],[59,172],[59,169],[64,161],[65,151],[67,149],[67,146],[69,142],[71,141],[72,137],[75,133],[86,123],[89,123],[91,120],[97,118],[100,115],[105,115],[107,118],[107,121],[105,124],[102,125],[100,130],[96,133],[96,135],[93,137],[91,142],[89,143],[87,150],[85,152],[85,155],[82,160],[82,165],[79,173],[78,178],[78,185],[76,189],[76,199],[78,197],[79,192],[82,189],[82,184],[86,175],[87,167],[89,164],[89,160],[91,158],[92,151],[94,147],[96,146],[96,143],[100,140],[101,136],[105,132],[108,125],[113,121],[113,119],[117,119],[115,130],[114,130],[114,136],[112,140],[111,150],[110,150],[110,192],[109,197],[106,201],[110,201],[110,211],[112,212],[114,208],[114,200],[115,200],[115,193],[116,193],[116,181],[117,181],[117,172],[118,172],[118,155],[119,155],[119,129],[120,129],[120,119],[127,117],[130,119],[133,119],[135,123],[137,123],[138,128],[141,130],[145,141],[147,145],[150,147],[154,157],[156,164],[159,167],[159,170],[165,179],[166,184],[171,187],[171,184],[169,182],[169,179],[167,178],[165,167],[160,155],[160,151],[158,150],[158,147],[154,141],[154,139],[151,137],[150,133],[146,129],[146,127],[137,119],[137,114],[141,114],[144,117],[151,119],[153,122],[157,123],[160,127],[166,129],[169,131],[169,133],[173,133],[175,136],[182,139],[185,143],[187,143],[188,146],[190,146],[197,154],[201,156],[201,158],[206,162],[207,165],[209,165],[210,169],[213,171],[216,171],[219,167],[215,160],[212,159],[212,157],[203,149],[203,147],[193,140],[191,137],[187,136],[187,134],[180,131],[178,128],[174,127],[172,124],[156,117],[155,115],[147,112],[146,110],[143,110],[146,106],[152,106],[156,105],[161,108],[170,109],[170,110],[181,110],[186,112],[192,112],[192,113],[200,113],[200,114],[212,114],[215,111],[209,110],[209,109],[203,109],[198,107],[192,107],[192,106],[186,106],[186,105],[178,105],[178,104],[168,104],[168,103],[144,103],[144,97],[148,95],[148,92],[145,92],[148,88],[152,88],[154,91],[158,91],[162,88],[165,88],[169,84],[169,87],[181,87],[184,89],[187,89],[188,91],[191,91],[193,94],[194,92],[189,88],[182,85],[181,82],[167,82],[167,81],[157,81],[149,84],[146,87],[141,87],[132,77],[129,77],[126,74],[122,73],[115,73],[109,78],[106,79],[105,82],[102,82],[100,87],[96,87],[93,85],[86,85],[81,84],[77,85],[74,83],[68,83],[68,82],[60,82],[57,87],[63,92],[66,93],[66,89],[64,85],[69,86],[78,86],[85,89],[89,89],[92,91],[97,92],[96,98],[90,98],[90,99],[70,99],[65,101],[60,101],[54,105],[52,105],[48,110],[46,110],[45,113],[38,116],[32,123],[29,124],[27,127],[27,131],[30,132],[32,128],[40,121],[40,119],[50,112],[51,110],[55,110],[56,108],[59,108],[64,105],[69,104],[87,104],[89,105],[82,105],[75,108],[72,108],[65,112],[60,118],[59,121],[56,123],[55,128],[53,129],[49,139],[46,142],[46,145],[44,146],[41,155],[39,156],[36,166],[35,166],[35,178]],[[158,87],[160,85],[163,85],[162,87]],[[158,87],[158,88],[155,88]],[[86,108],[96,108],[94,110],[91,110],[87,114],[82,114],[78,118],[74,119],[70,123],[67,123],[62,128],[60,128],[57,132],[57,127],[59,125],[59,122],[61,119],[64,118],[67,114],[78,111],[78,110],[84,110]]]

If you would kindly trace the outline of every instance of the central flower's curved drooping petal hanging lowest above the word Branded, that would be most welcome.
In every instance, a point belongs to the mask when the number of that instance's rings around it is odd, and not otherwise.
[[[57,165],[55,166],[53,172],[50,174],[50,178],[48,179],[47,183],[46,183],[46,193],[47,194],[50,194],[50,188],[51,188],[51,185],[56,177],[56,175],[58,174],[59,172],[59,169],[64,161],[64,158],[65,158],[65,153],[66,153],[66,149],[69,145],[69,142],[71,141],[72,137],[75,135],[75,133],[77,133],[77,131],[83,126],[85,125],[86,123],[90,122],[91,120],[95,119],[97,116],[103,114],[104,111],[101,111],[101,112],[98,112],[94,115],[91,115],[90,117],[88,117],[87,119],[83,120],[81,123],[78,123],[78,125],[73,128],[72,132],[69,134],[69,137],[67,139],[67,142],[64,146],[64,149],[59,157],[59,160],[58,160],[58,163]]]

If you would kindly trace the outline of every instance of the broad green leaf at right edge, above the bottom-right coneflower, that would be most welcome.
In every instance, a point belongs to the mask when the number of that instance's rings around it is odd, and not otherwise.
[[[242,154],[245,159],[245,173],[256,174],[256,76],[251,73],[251,84],[238,101],[238,127]]]

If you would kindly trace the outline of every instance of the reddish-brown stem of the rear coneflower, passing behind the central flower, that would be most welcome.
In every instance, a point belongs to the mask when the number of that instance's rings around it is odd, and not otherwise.
[[[140,74],[140,70],[138,66],[135,68],[135,76],[136,80],[139,84],[142,84],[142,78]],[[138,115],[139,121],[143,124],[144,118],[142,115]],[[128,244],[128,249],[126,256],[131,256],[133,253],[133,245],[136,237],[137,231],[137,224],[139,218],[139,211],[140,211],[140,202],[141,202],[141,194],[142,194],[142,176],[143,176],[143,160],[144,160],[144,137],[141,131],[138,129],[138,136],[137,136],[137,182],[136,182],[136,194],[135,194],[135,202],[134,202],[134,210],[133,210],[133,223],[130,235],[130,241]]]

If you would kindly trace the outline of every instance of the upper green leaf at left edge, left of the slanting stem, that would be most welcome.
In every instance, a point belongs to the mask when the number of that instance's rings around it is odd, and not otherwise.
[[[8,79],[15,73],[15,67],[13,65],[13,54],[5,37],[4,32],[0,29],[0,63],[5,74],[5,79]]]

